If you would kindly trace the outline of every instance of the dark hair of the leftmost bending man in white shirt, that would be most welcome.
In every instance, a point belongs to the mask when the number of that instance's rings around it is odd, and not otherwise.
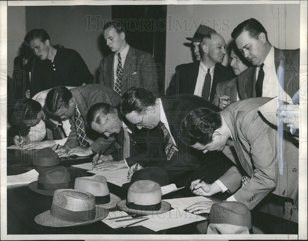
[[[25,120],[35,120],[41,110],[42,106],[39,102],[26,98],[16,103],[12,119],[14,122],[18,122],[18,124]]]

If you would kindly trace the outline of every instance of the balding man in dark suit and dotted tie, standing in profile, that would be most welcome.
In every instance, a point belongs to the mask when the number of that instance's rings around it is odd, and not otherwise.
[[[213,102],[217,83],[233,77],[232,71],[221,64],[225,48],[221,35],[213,32],[205,35],[200,43],[201,61],[176,66],[167,94],[194,94]]]

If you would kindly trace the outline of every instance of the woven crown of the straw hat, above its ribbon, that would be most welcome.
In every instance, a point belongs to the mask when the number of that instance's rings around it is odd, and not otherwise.
[[[95,197],[85,191],[58,189],[54,193],[52,203],[70,211],[89,211],[95,208]]]

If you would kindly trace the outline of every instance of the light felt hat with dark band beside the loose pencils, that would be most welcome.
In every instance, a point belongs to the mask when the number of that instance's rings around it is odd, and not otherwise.
[[[152,215],[167,212],[171,205],[161,200],[161,188],[156,182],[141,180],[132,183],[127,200],[117,203],[117,207],[129,214]]]

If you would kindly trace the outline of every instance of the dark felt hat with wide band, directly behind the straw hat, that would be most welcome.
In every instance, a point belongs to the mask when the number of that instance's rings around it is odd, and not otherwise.
[[[54,195],[55,190],[72,188],[71,178],[65,167],[51,167],[41,170],[37,181],[28,184],[28,187],[35,192],[44,195]]]

